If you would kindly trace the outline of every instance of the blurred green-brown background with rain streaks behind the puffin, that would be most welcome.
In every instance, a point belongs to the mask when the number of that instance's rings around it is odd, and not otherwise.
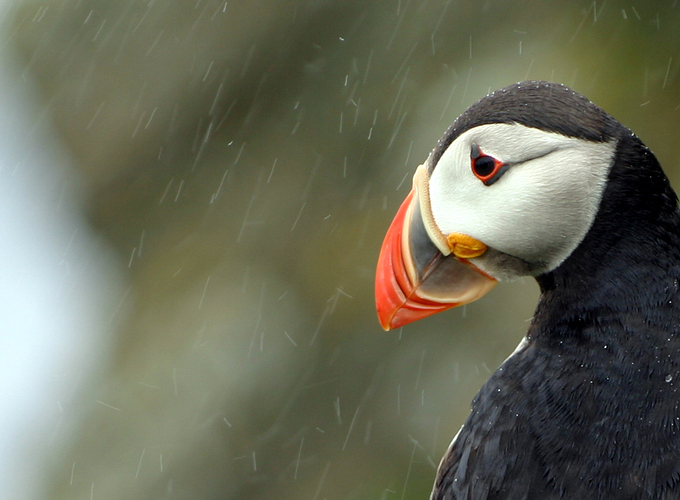
[[[415,167],[546,79],[680,186],[677,4],[4,2],[0,496],[428,498],[538,291],[380,329]]]

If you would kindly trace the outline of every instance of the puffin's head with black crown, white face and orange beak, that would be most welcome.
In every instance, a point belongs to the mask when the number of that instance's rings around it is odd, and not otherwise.
[[[619,145],[631,137],[555,83],[518,83],[472,105],[417,168],[383,242],[383,328],[558,268],[593,226]]]

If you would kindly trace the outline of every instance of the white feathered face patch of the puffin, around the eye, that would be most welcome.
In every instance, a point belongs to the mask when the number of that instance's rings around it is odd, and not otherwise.
[[[510,164],[487,186],[470,152]],[[461,134],[429,181],[434,220],[443,234],[464,233],[522,259],[532,274],[556,268],[579,245],[597,213],[615,142],[589,142],[517,124],[481,125]],[[497,279],[514,277],[490,255],[472,261]]]

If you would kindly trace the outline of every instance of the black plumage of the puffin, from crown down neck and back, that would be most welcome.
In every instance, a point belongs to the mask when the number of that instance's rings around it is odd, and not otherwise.
[[[536,278],[528,342],[473,401],[432,498],[680,498],[680,213],[668,179],[627,128],[545,82],[473,105],[430,169],[458,135],[485,123],[616,141],[616,152],[592,227]]]

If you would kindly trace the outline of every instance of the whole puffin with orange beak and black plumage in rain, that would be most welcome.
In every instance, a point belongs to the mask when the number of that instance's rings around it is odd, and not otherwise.
[[[432,500],[680,498],[680,212],[654,154],[557,83],[482,98],[413,176],[376,271],[386,330],[533,277]]]

